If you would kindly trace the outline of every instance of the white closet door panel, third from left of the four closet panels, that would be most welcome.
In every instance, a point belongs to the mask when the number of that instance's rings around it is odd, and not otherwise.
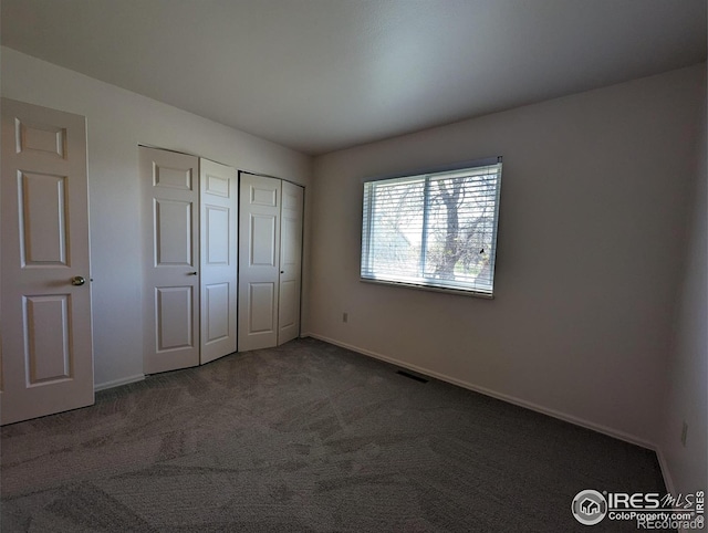
[[[278,344],[281,180],[241,174],[239,352]]]

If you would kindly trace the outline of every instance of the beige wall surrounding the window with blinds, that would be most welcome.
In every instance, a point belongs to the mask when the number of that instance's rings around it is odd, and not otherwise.
[[[315,158],[310,333],[650,446],[701,98],[695,66]],[[358,281],[362,178],[497,155],[494,300]]]

